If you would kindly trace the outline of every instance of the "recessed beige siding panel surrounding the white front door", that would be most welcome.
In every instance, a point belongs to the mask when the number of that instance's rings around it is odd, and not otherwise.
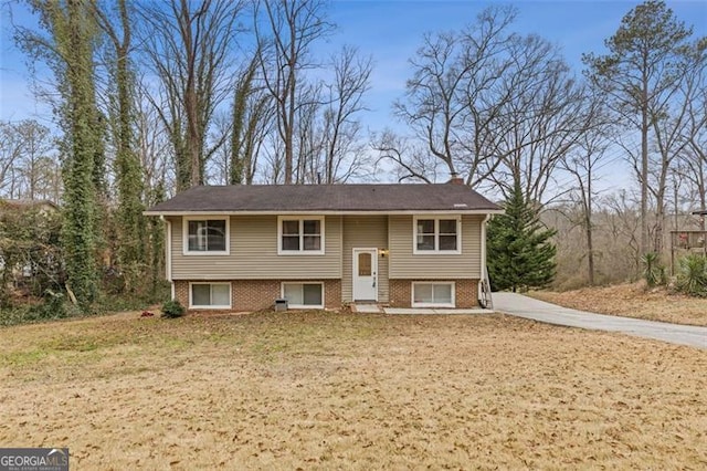
[[[388,216],[345,216],[341,299],[352,301],[354,249],[387,249]],[[389,258],[378,255],[378,301],[389,301]]]

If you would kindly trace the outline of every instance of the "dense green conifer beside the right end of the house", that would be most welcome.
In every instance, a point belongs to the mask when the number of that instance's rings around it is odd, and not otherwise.
[[[520,184],[505,205],[506,213],[488,223],[488,272],[494,291],[527,291],[555,279],[556,231],[547,229],[539,211],[526,201]]]

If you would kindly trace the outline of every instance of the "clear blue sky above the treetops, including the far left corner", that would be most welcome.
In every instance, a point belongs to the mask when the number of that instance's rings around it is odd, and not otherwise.
[[[707,1],[668,1],[676,15],[692,24],[698,35],[707,35]],[[17,3],[12,6],[14,22],[32,24],[32,17]],[[370,113],[365,126],[380,130],[391,124],[390,105],[404,92],[410,75],[411,57],[424,32],[458,30],[474,21],[476,14],[492,4],[482,1],[373,1],[334,0],[330,19],[338,27],[317,53],[327,54],[341,44],[351,44],[371,55],[374,63],[372,86],[366,100]],[[581,71],[583,52],[604,51],[603,41],[615,32],[622,17],[637,2],[633,1],[515,1],[518,19],[515,30],[537,33],[558,44],[567,61]],[[38,103],[30,91],[31,76],[25,60],[12,40],[8,4],[0,3],[0,119],[34,117],[49,124],[46,106]]]

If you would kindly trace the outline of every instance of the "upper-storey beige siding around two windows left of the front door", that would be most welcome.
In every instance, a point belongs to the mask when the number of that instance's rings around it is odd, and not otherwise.
[[[341,278],[341,217],[325,218],[325,254],[277,254],[277,216],[231,216],[230,254],[184,255],[182,218],[172,221],[175,280]]]

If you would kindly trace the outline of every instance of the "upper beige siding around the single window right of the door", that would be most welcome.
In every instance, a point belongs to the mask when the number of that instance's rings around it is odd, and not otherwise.
[[[390,216],[388,228],[390,279],[451,280],[481,278],[481,224],[483,216],[462,217],[461,254],[414,254],[412,221],[412,216]]]

